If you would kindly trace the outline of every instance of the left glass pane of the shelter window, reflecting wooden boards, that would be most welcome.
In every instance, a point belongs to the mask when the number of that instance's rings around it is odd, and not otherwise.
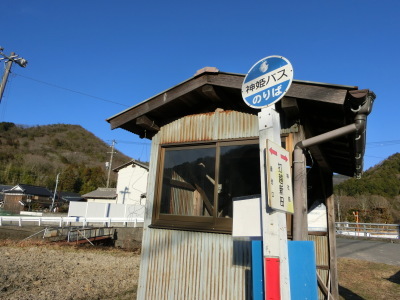
[[[212,216],[215,147],[166,149],[162,179],[162,214]]]

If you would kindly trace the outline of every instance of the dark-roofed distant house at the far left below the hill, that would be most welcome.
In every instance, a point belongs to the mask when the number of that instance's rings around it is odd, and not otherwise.
[[[14,213],[43,210],[50,208],[52,203],[52,193],[41,186],[17,184],[3,193],[3,209]]]

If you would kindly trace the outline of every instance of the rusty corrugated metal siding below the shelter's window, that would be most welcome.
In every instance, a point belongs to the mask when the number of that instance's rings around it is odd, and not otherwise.
[[[250,299],[250,242],[163,229],[151,229],[148,235],[140,299]]]

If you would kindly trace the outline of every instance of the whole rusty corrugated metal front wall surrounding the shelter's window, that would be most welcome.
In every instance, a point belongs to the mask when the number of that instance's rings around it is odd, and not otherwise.
[[[255,115],[221,111],[186,116],[152,139],[137,299],[250,299],[250,244],[231,235],[148,228],[159,145],[258,137]]]

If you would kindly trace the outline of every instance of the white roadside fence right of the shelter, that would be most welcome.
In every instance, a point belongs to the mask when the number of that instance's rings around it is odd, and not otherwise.
[[[336,222],[336,233],[341,235],[399,239],[400,225],[378,223]]]

